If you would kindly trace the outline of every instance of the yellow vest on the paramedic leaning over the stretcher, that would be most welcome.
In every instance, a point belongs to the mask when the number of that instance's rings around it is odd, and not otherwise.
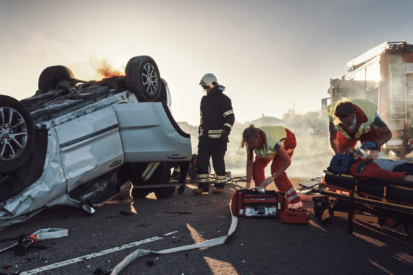
[[[377,111],[377,105],[363,98],[349,98],[349,100],[354,105],[359,107],[367,117],[367,120],[360,124],[359,129],[357,129],[357,132],[354,134],[355,138],[359,138],[361,135],[363,135],[363,133],[368,133],[371,131],[372,124],[374,122],[374,114]],[[332,104],[328,105],[327,107],[328,119],[330,120],[330,122],[334,121],[334,110],[337,105],[337,102],[339,101],[340,100],[332,102]],[[345,137],[352,138],[350,137],[350,135],[348,135],[348,133],[346,133],[346,131],[344,131],[343,127],[340,126],[340,124],[336,125],[335,129],[337,131],[340,131],[340,133],[342,133]]]

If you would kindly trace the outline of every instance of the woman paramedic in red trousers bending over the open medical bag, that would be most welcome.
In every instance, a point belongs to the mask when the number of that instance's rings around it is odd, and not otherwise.
[[[303,206],[293,184],[286,174],[297,142],[295,135],[284,126],[261,126],[251,124],[242,133],[241,147],[246,144],[246,189],[250,188],[251,177],[255,188],[264,191],[268,184],[275,181],[278,190],[284,192],[290,205],[297,209]],[[255,153],[255,160],[254,160]],[[264,169],[271,161],[271,176],[265,178]]]

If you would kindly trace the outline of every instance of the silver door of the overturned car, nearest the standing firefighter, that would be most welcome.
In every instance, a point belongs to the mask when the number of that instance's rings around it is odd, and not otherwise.
[[[125,162],[191,160],[191,138],[165,102],[114,104]]]

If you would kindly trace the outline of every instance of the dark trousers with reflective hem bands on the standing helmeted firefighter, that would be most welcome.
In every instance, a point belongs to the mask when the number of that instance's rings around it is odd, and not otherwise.
[[[226,142],[220,138],[200,137],[198,143],[198,159],[196,164],[198,187],[209,190],[209,159],[212,157],[212,166],[215,170],[216,188],[225,186],[225,162]]]

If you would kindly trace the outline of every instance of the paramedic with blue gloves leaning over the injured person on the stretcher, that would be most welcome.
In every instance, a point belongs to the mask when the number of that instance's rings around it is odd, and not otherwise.
[[[392,138],[392,132],[377,113],[377,105],[362,98],[343,99],[327,107],[330,148],[333,154],[354,148],[375,149]]]

